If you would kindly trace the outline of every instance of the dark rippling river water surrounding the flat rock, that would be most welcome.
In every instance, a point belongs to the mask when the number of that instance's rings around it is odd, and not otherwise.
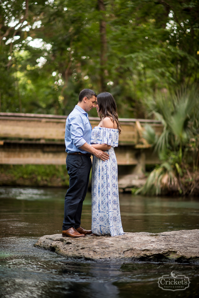
[[[198,297],[199,265],[85,261],[38,249],[40,236],[61,233],[66,190],[0,187],[0,297],[144,298]],[[125,232],[199,229],[199,199],[120,194]],[[91,194],[82,226],[91,228]],[[158,288],[158,277],[176,270],[190,279],[183,291]]]

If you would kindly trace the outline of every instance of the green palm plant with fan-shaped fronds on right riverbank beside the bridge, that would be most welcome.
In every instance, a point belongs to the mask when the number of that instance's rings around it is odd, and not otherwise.
[[[145,126],[143,137],[158,152],[163,162],[147,178],[139,190],[142,194],[159,195],[163,190],[186,193],[181,183],[183,170],[187,170],[187,153],[191,145],[198,151],[199,139],[199,91],[197,86],[181,86],[177,91],[158,93],[156,98],[145,101],[149,114],[161,120],[164,128],[157,135],[152,127]],[[194,151],[194,150],[193,150]],[[194,153],[195,154],[195,153]],[[199,156],[199,153],[198,153]],[[190,162],[190,158],[189,158]],[[196,162],[196,167],[198,158]],[[189,173],[190,175],[190,173]]]

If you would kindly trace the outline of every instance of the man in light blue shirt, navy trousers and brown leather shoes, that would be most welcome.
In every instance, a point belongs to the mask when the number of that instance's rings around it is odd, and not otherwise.
[[[95,106],[96,94],[90,89],[83,89],[78,104],[66,119],[66,168],[69,174],[69,189],[64,203],[62,236],[79,238],[91,234],[81,224],[82,205],[88,188],[91,171],[91,154],[102,159],[109,155],[91,147],[91,124],[87,112]]]

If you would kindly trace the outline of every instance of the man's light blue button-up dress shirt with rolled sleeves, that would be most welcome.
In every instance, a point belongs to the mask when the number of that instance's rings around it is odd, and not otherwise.
[[[85,143],[91,144],[91,123],[88,114],[76,105],[66,119],[65,144],[66,152],[88,153],[79,149]]]

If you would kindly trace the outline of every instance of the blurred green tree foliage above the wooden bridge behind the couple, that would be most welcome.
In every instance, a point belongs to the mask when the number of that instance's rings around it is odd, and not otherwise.
[[[90,88],[144,117],[143,98],[198,83],[198,2],[1,1],[1,111],[68,114]]]

